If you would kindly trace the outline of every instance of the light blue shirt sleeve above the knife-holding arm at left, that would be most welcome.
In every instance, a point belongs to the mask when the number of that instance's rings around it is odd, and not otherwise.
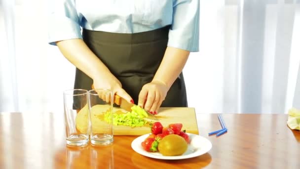
[[[49,0],[48,43],[82,39],[75,0]]]

